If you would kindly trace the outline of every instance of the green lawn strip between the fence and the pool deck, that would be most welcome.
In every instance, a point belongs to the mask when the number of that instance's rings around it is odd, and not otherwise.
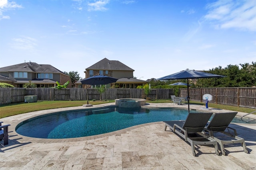
[[[104,104],[104,103],[112,103],[114,100],[108,101],[89,101],[89,104],[96,105],[96,104]],[[154,101],[146,101],[148,103],[172,103],[170,100],[154,100]],[[4,106],[0,106],[0,118],[8,117],[12,115],[18,115],[22,113],[28,113],[31,111],[39,111],[45,109],[55,109],[61,107],[74,107],[74,106],[82,106],[86,104],[87,101],[38,101],[36,103],[18,103],[18,104],[8,104]],[[205,105],[202,102],[194,102],[190,101],[190,104],[198,104],[198,105]],[[212,104],[208,103],[209,107],[214,107],[217,109],[226,109],[232,111],[240,111],[244,113],[251,113],[255,111],[255,109],[245,108],[245,107],[237,107],[237,106],[227,106],[221,104]]]

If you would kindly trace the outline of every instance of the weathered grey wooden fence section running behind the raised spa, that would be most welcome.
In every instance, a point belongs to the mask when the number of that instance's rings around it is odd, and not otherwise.
[[[37,96],[37,100],[87,100],[84,88],[0,88],[0,104],[12,102],[24,102],[24,96]],[[97,89],[89,88],[88,100],[99,100],[100,93]],[[169,99],[173,95],[173,89],[151,89],[145,96],[144,89],[136,88],[107,88],[102,93],[102,100],[114,100],[118,98],[152,98]]]

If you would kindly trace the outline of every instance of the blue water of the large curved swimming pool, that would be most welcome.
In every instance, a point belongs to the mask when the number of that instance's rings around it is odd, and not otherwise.
[[[20,135],[45,139],[86,137],[156,121],[184,120],[183,109],[126,109],[62,111],[34,117],[16,127]]]

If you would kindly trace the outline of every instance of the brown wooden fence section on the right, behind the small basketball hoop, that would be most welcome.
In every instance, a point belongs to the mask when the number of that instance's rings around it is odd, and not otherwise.
[[[186,97],[187,89],[180,89],[180,97]],[[209,103],[256,109],[256,88],[190,88],[190,100],[203,101],[204,94],[212,95]]]

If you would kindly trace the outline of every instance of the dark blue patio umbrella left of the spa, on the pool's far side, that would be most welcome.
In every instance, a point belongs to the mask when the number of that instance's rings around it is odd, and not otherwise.
[[[88,103],[88,93],[87,93],[87,88],[86,85],[100,85],[100,84],[110,84],[114,83],[118,80],[117,78],[109,77],[109,76],[103,76],[103,75],[97,75],[97,76],[92,76],[90,78],[84,78],[80,80],[82,84],[85,84],[85,89],[86,89],[86,94],[87,94],[87,104]]]

